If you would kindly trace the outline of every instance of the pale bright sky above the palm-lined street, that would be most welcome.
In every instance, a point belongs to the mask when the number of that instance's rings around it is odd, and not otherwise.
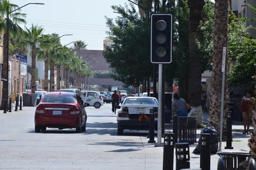
[[[19,7],[30,2],[40,2],[44,5],[29,4],[22,7],[21,12],[27,14],[27,27],[40,25],[43,34],[57,33],[62,45],[82,40],[88,50],[103,50],[103,40],[106,34],[106,19],[116,18],[118,14],[111,9],[112,5],[124,6],[128,0],[9,0]],[[24,26],[25,28],[25,26]],[[71,43],[68,47],[72,47]]]

